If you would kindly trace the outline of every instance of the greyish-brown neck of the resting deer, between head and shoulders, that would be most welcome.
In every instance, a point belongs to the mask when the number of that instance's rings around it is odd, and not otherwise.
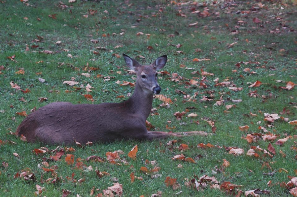
[[[139,115],[145,122],[149,117],[149,113],[153,103],[153,92],[142,89],[137,83],[133,95],[126,101],[129,110]]]

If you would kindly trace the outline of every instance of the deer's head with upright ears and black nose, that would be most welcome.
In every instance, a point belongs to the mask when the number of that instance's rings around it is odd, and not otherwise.
[[[167,61],[167,55],[158,57],[150,65],[141,65],[136,60],[123,54],[127,66],[136,72],[136,83],[145,91],[159,94],[161,87],[157,82],[157,70],[163,68]]]

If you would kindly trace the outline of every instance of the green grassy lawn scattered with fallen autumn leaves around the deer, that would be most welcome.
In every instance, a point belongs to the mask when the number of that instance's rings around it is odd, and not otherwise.
[[[297,126],[288,123],[297,120],[295,1],[2,0],[0,8],[0,196],[62,196],[63,191],[67,196],[66,190],[71,191],[68,196],[90,196],[92,190],[92,196],[101,196],[115,182],[122,184],[123,196],[149,197],[158,191],[163,197],[179,191],[178,196],[241,191],[244,196],[255,189],[270,191],[261,196],[293,196],[290,189],[296,185],[289,189],[286,183],[297,176]],[[56,101],[97,104],[128,99],[134,87],[116,82],[135,82],[136,76],[127,71],[122,53],[141,64],[168,55],[158,82],[161,94],[173,103],[168,107],[153,100],[157,110],[148,118],[155,127],[151,130],[213,135],[94,142],[84,148],[73,145],[72,152],[67,151],[70,146],[61,146],[53,153],[57,146],[13,135],[24,119],[18,112],[30,114]],[[71,80],[79,83],[63,84]],[[260,86],[252,87],[256,81]],[[19,88],[12,87],[16,84]],[[90,92],[88,84],[93,86]],[[179,119],[174,116],[178,111],[185,112]],[[267,113],[278,115],[264,120]],[[287,141],[277,142],[284,138]],[[166,145],[170,140],[177,142]],[[181,144],[188,149],[180,150]],[[128,153],[135,145],[133,160]],[[35,154],[41,147],[48,150]],[[66,151],[60,160],[51,159],[61,148]],[[250,149],[256,154],[247,155]],[[107,161],[105,153],[116,150],[124,152],[120,157],[127,165]],[[67,164],[66,154],[74,155],[74,163]],[[195,163],[172,159],[180,154]],[[92,155],[104,162],[87,161]],[[154,166],[161,168],[155,177],[140,171]],[[100,177],[96,170],[109,175]],[[142,180],[131,182],[131,173]],[[35,178],[28,178],[30,174]],[[203,175],[216,178],[217,185],[200,179]],[[166,177],[180,186],[167,187]],[[36,185],[44,187],[42,193],[34,194]]]

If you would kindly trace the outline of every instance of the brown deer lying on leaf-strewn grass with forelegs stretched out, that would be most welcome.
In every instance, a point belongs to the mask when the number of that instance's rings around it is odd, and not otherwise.
[[[121,103],[72,104],[49,103],[29,114],[18,126],[16,135],[28,142],[49,145],[112,142],[114,140],[157,140],[169,136],[206,136],[204,131],[162,132],[148,131],[146,119],[150,115],[153,94],[159,94],[157,70],[167,62],[167,55],[158,57],[150,65],[141,65],[123,54],[128,68],[136,73],[135,90]]]

